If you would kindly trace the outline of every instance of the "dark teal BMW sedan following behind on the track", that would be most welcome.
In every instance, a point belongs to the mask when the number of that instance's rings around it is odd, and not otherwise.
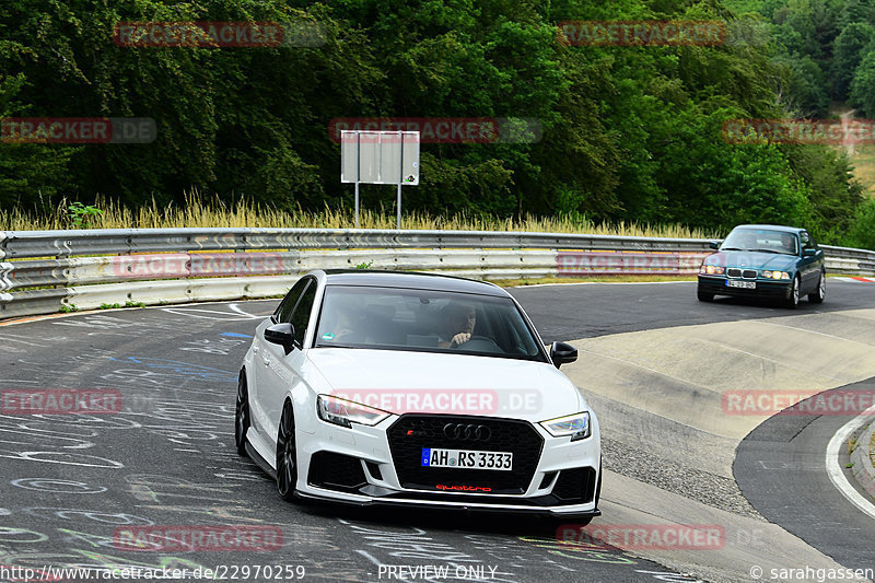
[[[780,300],[796,307],[800,298],[820,303],[826,298],[824,252],[804,229],[772,224],[742,224],[699,268],[698,295],[711,302],[715,295]]]

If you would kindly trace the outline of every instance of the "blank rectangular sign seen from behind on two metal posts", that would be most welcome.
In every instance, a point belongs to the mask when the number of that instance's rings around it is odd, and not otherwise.
[[[359,185],[397,185],[396,228],[400,231],[401,186],[419,184],[419,132],[341,131],[340,182],[355,184],[355,229],[359,228]]]

